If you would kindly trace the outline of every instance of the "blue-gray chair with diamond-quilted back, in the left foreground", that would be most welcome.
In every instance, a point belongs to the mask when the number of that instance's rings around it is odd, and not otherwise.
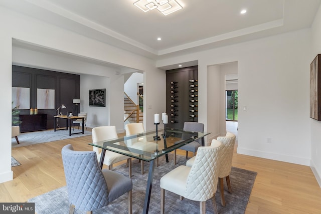
[[[69,213],[75,209],[92,213],[108,203],[128,193],[128,213],[132,213],[132,181],[130,178],[101,169],[96,152],[74,151],[71,144],[62,148],[68,198]]]

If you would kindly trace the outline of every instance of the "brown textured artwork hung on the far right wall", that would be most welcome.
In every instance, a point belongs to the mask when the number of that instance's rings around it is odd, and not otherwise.
[[[310,64],[310,118],[321,120],[321,54]]]

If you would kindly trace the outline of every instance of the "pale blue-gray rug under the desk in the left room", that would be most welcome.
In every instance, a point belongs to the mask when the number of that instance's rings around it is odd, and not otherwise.
[[[79,129],[75,129],[74,131],[71,129],[71,133],[80,132],[80,131],[81,130]],[[65,140],[65,139],[74,138],[74,137],[83,137],[87,135],[91,135],[91,131],[84,130],[84,134],[74,134],[69,136],[69,130],[54,131],[53,129],[51,129],[46,131],[33,131],[33,132],[21,133],[18,136],[20,144],[17,143],[15,138],[12,138],[11,143],[12,143],[12,147],[14,148],[14,147],[20,147],[20,146],[28,146],[28,145],[37,144],[37,143],[51,142],[56,140]]]

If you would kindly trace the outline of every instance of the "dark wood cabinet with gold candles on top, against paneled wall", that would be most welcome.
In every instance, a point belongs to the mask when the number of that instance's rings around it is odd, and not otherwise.
[[[47,130],[47,114],[20,114],[20,132]]]

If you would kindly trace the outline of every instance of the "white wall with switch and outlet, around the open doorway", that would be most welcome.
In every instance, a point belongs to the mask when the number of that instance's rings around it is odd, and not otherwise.
[[[247,111],[238,113],[237,152],[310,165],[310,45],[306,29],[159,60],[156,66],[198,60],[199,121],[209,124],[208,66],[238,62],[238,102]]]

